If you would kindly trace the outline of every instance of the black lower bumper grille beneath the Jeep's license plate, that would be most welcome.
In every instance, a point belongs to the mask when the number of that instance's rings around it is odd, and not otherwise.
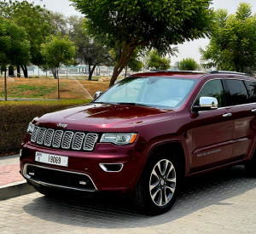
[[[96,186],[87,174],[45,168],[32,164],[25,165],[23,174],[26,179],[38,184],[54,185],[80,191],[96,191]]]

